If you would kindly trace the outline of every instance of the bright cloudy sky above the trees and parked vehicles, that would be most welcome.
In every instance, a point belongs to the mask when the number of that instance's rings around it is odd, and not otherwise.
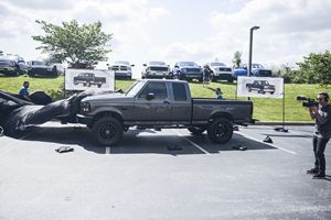
[[[61,25],[100,21],[113,33],[108,63],[128,61],[140,72],[148,61],[220,61],[234,53],[253,63],[295,66],[310,53],[331,48],[330,0],[0,0],[0,51],[29,59],[46,55],[32,35],[43,35],[35,20]]]

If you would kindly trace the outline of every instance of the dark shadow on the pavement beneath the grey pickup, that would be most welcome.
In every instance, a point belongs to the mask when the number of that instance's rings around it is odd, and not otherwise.
[[[62,145],[78,145],[86,151],[105,154],[106,147],[98,145],[92,132],[85,127],[38,127],[29,131],[24,141],[52,142]],[[263,141],[263,140],[261,140]],[[191,142],[191,143],[190,143]],[[194,146],[196,144],[196,146]],[[234,133],[226,144],[211,142],[206,134],[179,136],[174,132],[156,132],[153,130],[129,130],[124,133],[121,142],[111,146],[110,154],[216,154],[223,151],[238,151],[238,146],[252,150],[276,150],[271,145],[249,140]]]

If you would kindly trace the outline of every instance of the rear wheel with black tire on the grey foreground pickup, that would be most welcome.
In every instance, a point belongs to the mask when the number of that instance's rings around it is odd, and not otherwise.
[[[233,124],[225,118],[215,119],[207,128],[207,136],[214,143],[226,143],[232,135]]]

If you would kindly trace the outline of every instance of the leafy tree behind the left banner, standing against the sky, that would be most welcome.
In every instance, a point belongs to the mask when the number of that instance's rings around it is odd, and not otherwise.
[[[102,22],[79,25],[76,20],[54,25],[45,21],[35,21],[41,25],[45,35],[32,36],[41,42],[42,50],[50,59],[58,63],[67,62],[73,68],[88,68],[99,61],[107,61],[106,55],[111,52],[107,43],[113,34],[102,31]]]

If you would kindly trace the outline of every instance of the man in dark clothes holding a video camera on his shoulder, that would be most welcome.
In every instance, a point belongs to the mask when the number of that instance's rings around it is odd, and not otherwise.
[[[325,177],[325,157],[324,150],[331,138],[331,106],[329,105],[328,92],[318,95],[318,105],[309,107],[309,113],[316,120],[312,136],[314,153],[314,168],[307,170],[307,174],[313,174],[313,178]]]

